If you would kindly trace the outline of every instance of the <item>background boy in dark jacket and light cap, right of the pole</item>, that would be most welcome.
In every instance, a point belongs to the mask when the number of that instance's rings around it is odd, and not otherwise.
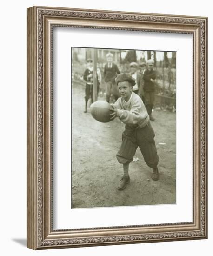
[[[113,63],[113,54],[107,54],[107,64],[104,67],[104,81],[106,83],[107,102],[110,101],[110,95],[113,94],[115,101],[119,97],[119,91],[115,84],[115,77],[120,74],[118,66]]]

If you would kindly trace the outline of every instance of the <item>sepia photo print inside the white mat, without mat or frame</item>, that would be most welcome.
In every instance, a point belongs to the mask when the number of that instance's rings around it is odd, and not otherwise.
[[[71,47],[71,209],[176,203],[176,52]]]

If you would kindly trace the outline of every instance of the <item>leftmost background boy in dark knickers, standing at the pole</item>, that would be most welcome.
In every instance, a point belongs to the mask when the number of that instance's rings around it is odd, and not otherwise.
[[[87,102],[91,98],[91,102],[93,103],[93,60],[87,59],[87,68],[84,71],[83,75],[84,81],[86,81],[85,87],[85,110],[84,113],[87,113]],[[100,69],[97,68],[97,94],[99,92],[99,85],[101,80]]]

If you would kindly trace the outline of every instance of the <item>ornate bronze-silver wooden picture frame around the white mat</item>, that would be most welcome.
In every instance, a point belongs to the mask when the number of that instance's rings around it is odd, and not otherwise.
[[[53,230],[52,28],[193,35],[193,222]],[[56,249],[207,238],[207,18],[58,7],[27,9],[27,247]]]

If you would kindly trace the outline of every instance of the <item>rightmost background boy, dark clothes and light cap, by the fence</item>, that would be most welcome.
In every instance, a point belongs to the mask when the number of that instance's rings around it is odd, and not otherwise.
[[[155,79],[156,79],[156,71],[153,70],[154,61],[149,59],[147,61],[148,68],[144,72],[143,80],[144,80],[144,98],[147,112],[149,114],[149,119],[154,121],[155,119],[152,116],[152,110],[155,99]]]

